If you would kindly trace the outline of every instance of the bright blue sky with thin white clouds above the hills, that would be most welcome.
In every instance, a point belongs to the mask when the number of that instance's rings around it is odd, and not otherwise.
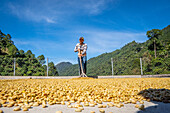
[[[170,0],[0,0],[0,30],[18,49],[77,63],[79,37],[88,59],[112,52],[146,31],[170,24]]]

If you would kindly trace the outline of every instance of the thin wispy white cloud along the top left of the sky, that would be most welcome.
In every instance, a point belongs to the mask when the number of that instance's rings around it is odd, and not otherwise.
[[[116,0],[114,0],[116,1]],[[97,15],[113,0],[23,0],[8,2],[13,15],[35,22],[58,23],[68,16]]]

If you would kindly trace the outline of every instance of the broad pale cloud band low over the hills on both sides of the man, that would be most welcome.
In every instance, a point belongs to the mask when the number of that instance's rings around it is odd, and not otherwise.
[[[76,31],[76,32],[75,32]],[[70,34],[70,32],[72,34]],[[147,40],[144,32],[129,32],[129,31],[106,31],[106,30],[74,30],[68,31],[66,34],[71,35],[84,34],[85,43],[88,44],[87,56],[88,59],[98,56],[105,52],[112,52],[123,47],[128,42],[135,40],[136,42],[144,42]],[[64,39],[65,40],[65,39]],[[77,53],[74,53],[74,47],[78,39],[66,39],[67,41],[54,41],[53,39],[43,40],[39,38],[14,39],[14,42],[19,49],[31,49],[36,55],[44,54],[45,57],[51,58],[55,64],[63,61],[69,61],[73,64],[77,63]]]

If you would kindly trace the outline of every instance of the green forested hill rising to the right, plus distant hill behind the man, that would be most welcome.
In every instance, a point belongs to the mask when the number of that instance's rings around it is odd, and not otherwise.
[[[154,57],[153,39],[144,43],[132,41],[121,49],[104,53],[88,60],[87,75],[111,75],[111,58],[115,75],[140,74],[140,60],[144,74],[170,73],[170,25],[161,30],[162,35],[156,40],[157,57]],[[63,75],[78,75],[78,65],[67,67]]]

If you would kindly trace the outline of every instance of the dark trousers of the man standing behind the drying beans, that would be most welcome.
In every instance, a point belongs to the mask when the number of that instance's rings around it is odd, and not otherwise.
[[[83,71],[84,73],[86,74],[86,66],[87,66],[87,56],[82,56],[81,57],[81,63],[82,63],[82,68],[83,68]],[[79,75],[82,74],[82,71],[81,71],[81,64],[80,64],[80,58],[78,57],[78,64],[79,64]]]

